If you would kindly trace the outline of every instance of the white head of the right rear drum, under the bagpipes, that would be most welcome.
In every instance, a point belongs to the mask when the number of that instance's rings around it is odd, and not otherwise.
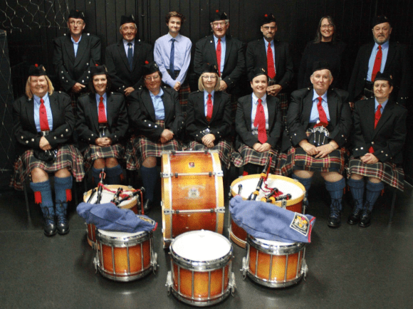
[[[270,175],[266,182],[263,183],[260,193],[256,198],[257,201],[259,201],[262,197],[265,197],[265,195],[268,194],[272,188],[277,188],[278,190],[283,192],[283,195],[291,194],[291,199],[298,199],[300,197],[303,197],[303,189],[298,187],[298,185],[294,184],[293,182],[284,180],[284,177],[271,176],[273,175]],[[242,184],[241,197],[243,199],[248,199],[250,194],[255,191],[258,180],[258,175],[256,178],[241,179],[239,182],[236,182],[236,184],[234,184],[234,187],[231,187],[231,191],[238,193],[238,186],[239,184]],[[268,189],[265,188],[265,185],[268,187]]]

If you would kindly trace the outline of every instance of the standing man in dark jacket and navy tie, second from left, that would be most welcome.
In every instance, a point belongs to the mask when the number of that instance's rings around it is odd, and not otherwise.
[[[153,61],[152,46],[136,39],[137,26],[132,15],[120,18],[122,39],[106,48],[105,63],[113,91],[130,95],[142,81],[142,66]]]

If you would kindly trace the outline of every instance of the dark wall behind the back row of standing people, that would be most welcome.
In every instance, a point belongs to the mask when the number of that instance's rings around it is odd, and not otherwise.
[[[8,0],[7,3],[15,7],[16,0]],[[11,31],[8,36],[15,84],[25,79],[22,75],[26,67],[22,63],[43,63],[48,72],[52,72],[53,39],[67,31],[66,27],[56,25],[65,24],[67,12],[62,13],[67,8],[85,11],[85,31],[99,36],[103,47],[120,39],[120,16],[125,14],[134,14],[139,38],[153,44],[158,37],[167,33],[164,16],[168,11],[180,11],[187,17],[182,34],[193,43],[210,33],[209,16],[216,9],[229,14],[229,33],[244,42],[260,37],[258,16],[272,12],[278,24],[276,38],[291,44],[296,72],[305,44],[314,38],[318,21],[324,15],[333,16],[338,38],[347,43],[349,70],[352,69],[358,48],[372,41],[371,22],[376,15],[386,14],[392,21],[392,41],[405,43],[410,50],[413,47],[413,1],[409,0],[39,0],[38,6],[53,23],[37,28],[22,27],[21,31]],[[55,15],[53,11],[60,13]],[[33,21],[41,25],[42,18],[41,14],[33,14]],[[103,48],[103,59],[104,55]],[[19,95],[19,87],[15,85],[14,89],[14,95]],[[409,105],[410,114],[412,104]],[[409,125],[410,132],[411,129],[412,125]],[[410,177],[413,176],[413,162],[410,162],[412,151],[406,150],[405,156],[408,162],[405,169]]]

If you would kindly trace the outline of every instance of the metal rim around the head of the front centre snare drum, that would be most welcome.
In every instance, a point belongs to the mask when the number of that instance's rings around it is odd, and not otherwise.
[[[174,251],[174,246],[173,246],[174,243],[177,241],[177,239],[180,239],[189,234],[199,233],[199,231],[188,231],[184,234],[180,234],[177,237],[175,237],[172,243],[170,244],[169,253],[171,253],[172,261],[176,263],[177,266],[184,268],[188,271],[214,271],[214,270],[223,268],[233,258],[234,247],[232,246],[231,241],[229,241],[225,236],[218,234],[216,232],[208,231],[208,230],[201,230],[201,231],[206,232],[207,234],[214,235],[214,236],[219,236],[221,237],[221,239],[224,239],[229,244],[228,253],[226,253],[224,256],[221,256],[220,258],[215,258],[213,260],[208,260],[208,261],[194,261],[194,260],[190,260],[189,258],[184,258],[183,256],[180,256],[176,251]]]

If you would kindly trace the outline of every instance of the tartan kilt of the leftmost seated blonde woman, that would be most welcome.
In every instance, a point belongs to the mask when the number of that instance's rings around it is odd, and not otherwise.
[[[73,145],[62,145],[58,147],[58,155],[51,163],[41,161],[34,157],[33,150],[23,152],[23,155],[14,162],[14,174],[11,177],[9,186],[14,187],[16,190],[23,190],[23,184],[30,174],[30,171],[36,167],[48,173],[67,168],[72,172],[76,182],[81,182],[83,177],[85,177],[83,157],[78,148]]]

